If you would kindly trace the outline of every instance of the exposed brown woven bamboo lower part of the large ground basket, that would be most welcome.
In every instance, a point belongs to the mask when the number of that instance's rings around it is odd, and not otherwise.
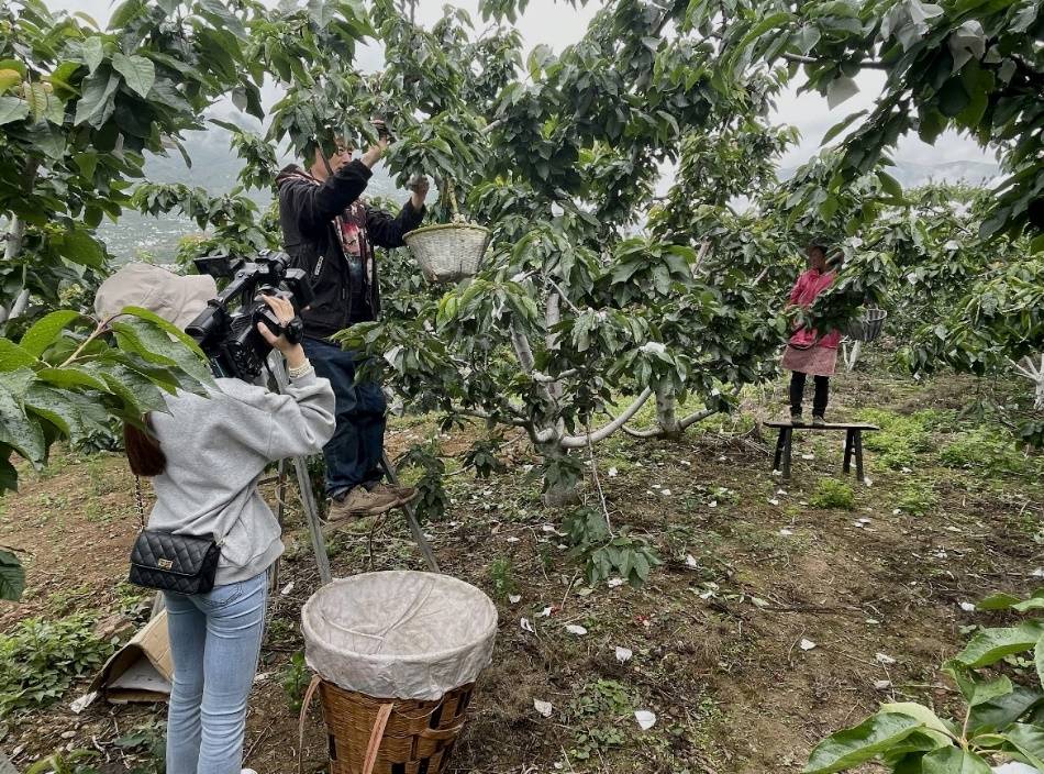
[[[320,684],[330,774],[441,774],[471,699],[474,683],[437,701],[377,699]],[[367,765],[369,767],[367,767]]]

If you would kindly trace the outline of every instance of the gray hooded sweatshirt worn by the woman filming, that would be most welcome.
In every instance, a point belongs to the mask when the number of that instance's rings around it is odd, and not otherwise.
[[[281,530],[257,490],[269,462],[315,454],[333,435],[334,396],[314,373],[285,395],[240,379],[218,379],[210,397],[167,396],[169,413],[152,414],[167,457],[153,479],[149,529],[222,542],[215,585],[246,580],[282,553]]]

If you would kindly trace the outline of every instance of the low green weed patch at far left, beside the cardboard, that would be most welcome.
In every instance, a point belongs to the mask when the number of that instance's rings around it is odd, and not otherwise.
[[[74,681],[101,666],[115,640],[100,640],[93,624],[88,613],[54,621],[29,618],[0,635],[0,718],[55,701]]]

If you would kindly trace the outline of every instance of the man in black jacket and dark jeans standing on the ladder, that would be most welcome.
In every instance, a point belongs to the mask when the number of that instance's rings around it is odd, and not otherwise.
[[[284,246],[295,266],[308,272],[315,298],[301,317],[304,352],[315,372],[330,379],[337,399],[337,429],[326,444],[329,519],[382,513],[415,495],[410,487],[381,483],[387,402],[380,385],[355,383],[356,356],[329,341],[380,311],[374,245],[401,247],[424,217],[427,179],[418,178],[397,217],[368,207],[359,197],[389,135],[360,158],[340,137],[324,150],[316,143],[311,165],[284,168],[276,178]],[[330,135],[332,137],[332,133]],[[332,155],[326,155],[331,153]]]

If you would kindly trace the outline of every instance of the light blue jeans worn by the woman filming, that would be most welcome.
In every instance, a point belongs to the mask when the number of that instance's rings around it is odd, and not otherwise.
[[[174,660],[167,774],[240,774],[268,573],[207,594],[164,597]]]

